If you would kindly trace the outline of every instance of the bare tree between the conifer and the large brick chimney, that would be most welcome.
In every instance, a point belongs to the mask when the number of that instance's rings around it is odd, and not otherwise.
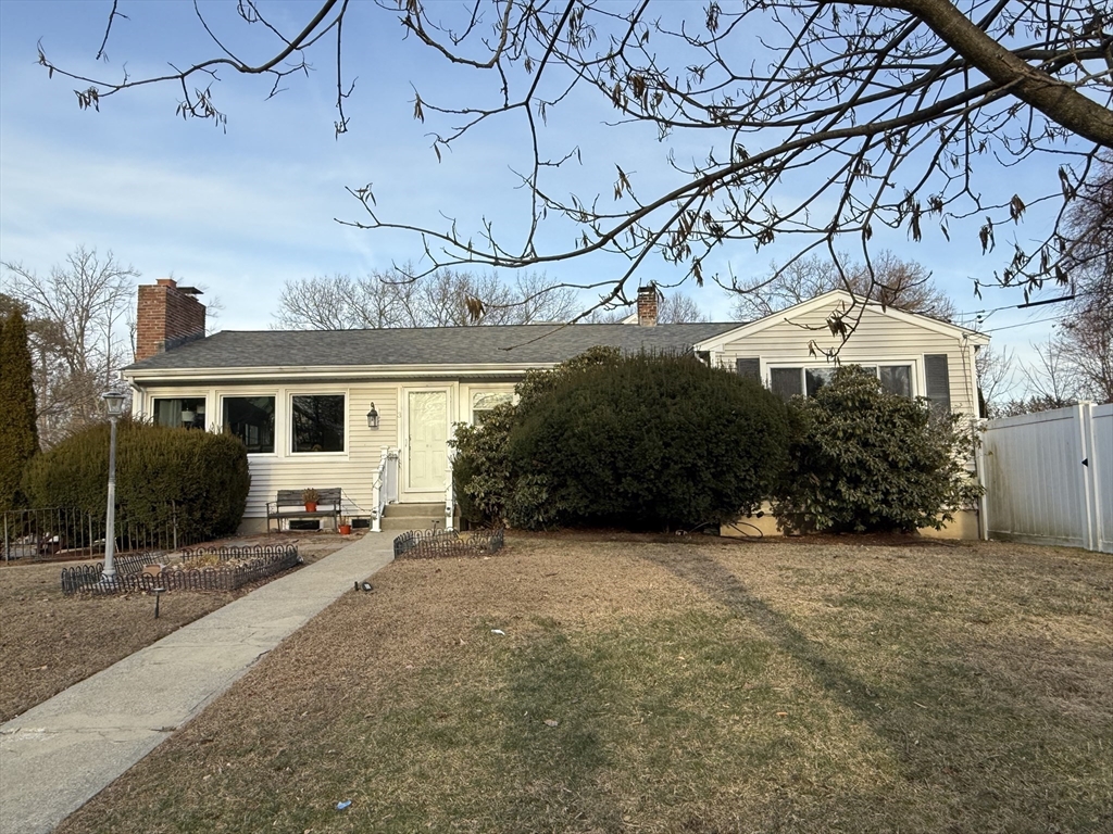
[[[100,395],[131,361],[127,316],[139,272],[79,246],[39,275],[3,261],[3,291],[22,304],[45,445],[101,417]]]

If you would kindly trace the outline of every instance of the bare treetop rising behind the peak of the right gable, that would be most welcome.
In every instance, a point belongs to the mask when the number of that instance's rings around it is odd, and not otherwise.
[[[853,295],[879,301],[908,312],[949,321],[957,310],[932,281],[932,274],[914,260],[898,258],[889,250],[878,252],[873,271],[847,256],[837,260],[811,255],[785,267],[774,264],[769,275],[738,281],[742,294],[731,307],[739,321],[765,318],[809,298],[846,289]]]

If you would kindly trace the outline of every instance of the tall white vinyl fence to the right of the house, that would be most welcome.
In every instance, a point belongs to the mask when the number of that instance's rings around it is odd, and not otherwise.
[[[1113,404],[989,420],[989,538],[1113,553]]]

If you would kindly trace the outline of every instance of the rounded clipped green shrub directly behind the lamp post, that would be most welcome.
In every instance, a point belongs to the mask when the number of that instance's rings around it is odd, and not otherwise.
[[[71,507],[104,518],[108,502],[109,425],[71,435],[28,466],[24,490],[38,507]],[[167,529],[183,540],[236,532],[250,477],[244,444],[228,435],[119,420],[116,497],[132,529]]]

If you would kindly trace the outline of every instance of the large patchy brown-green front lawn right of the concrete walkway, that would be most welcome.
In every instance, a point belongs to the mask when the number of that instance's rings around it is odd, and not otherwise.
[[[59,832],[1113,828],[1107,556],[515,537],[374,584]]]

